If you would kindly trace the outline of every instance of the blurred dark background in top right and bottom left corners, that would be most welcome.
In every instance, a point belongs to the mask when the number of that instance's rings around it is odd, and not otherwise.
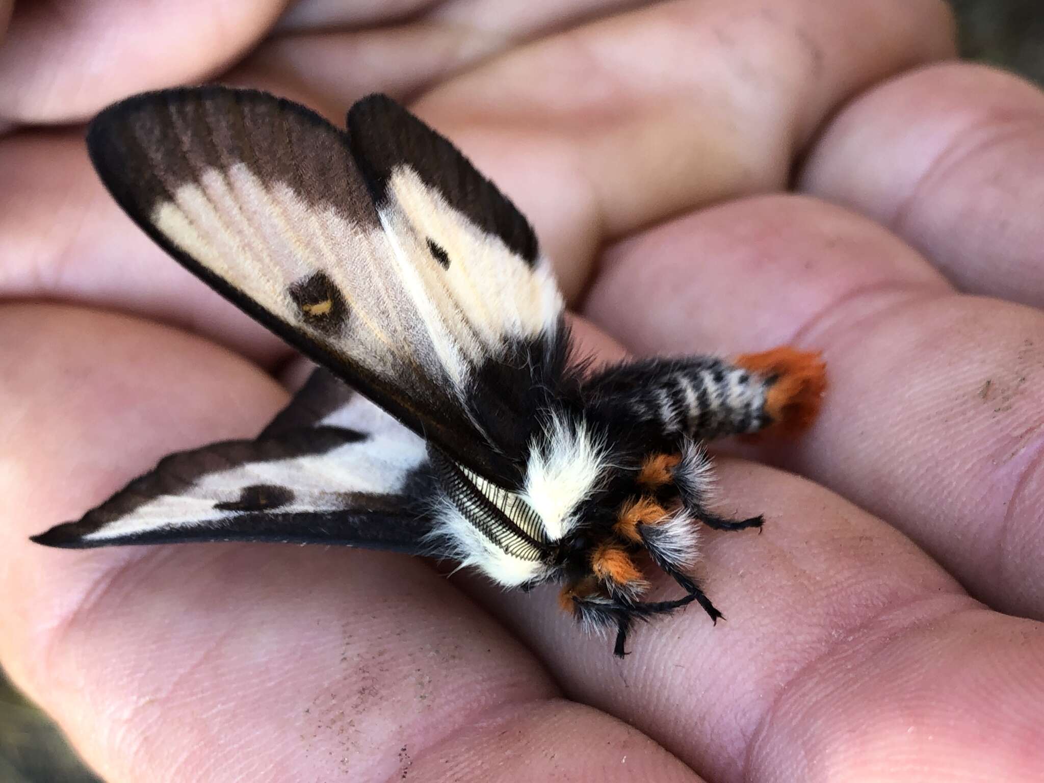
[[[1044,85],[1042,0],[951,0],[967,57],[1018,71]],[[100,783],[61,732],[0,672],[0,783]]]

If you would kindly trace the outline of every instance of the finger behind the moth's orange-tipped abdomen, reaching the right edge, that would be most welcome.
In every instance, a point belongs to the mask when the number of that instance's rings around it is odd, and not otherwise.
[[[775,459],[899,527],[992,607],[1044,617],[1040,312],[955,294],[875,223],[786,196],[621,244],[587,311],[640,353],[823,350],[820,421]]]

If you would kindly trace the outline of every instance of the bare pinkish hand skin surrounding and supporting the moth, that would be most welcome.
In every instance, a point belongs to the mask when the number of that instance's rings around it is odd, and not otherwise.
[[[57,6],[19,4],[0,43],[0,126],[23,125],[0,138],[0,660],[106,780],[1041,779],[1044,130],[1011,118],[1044,97],[930,65],[942,2],[548,0],[524,24],[492,0],[315,2],[272,37],[279,4],[226,2],[198,46],[183,6],[117,5],[48,25]],[[24,125],[246,51],[230,81],[331,117],[417,97],[533,219],[601,357],[825,351],[813,431],[743,447],[807,478],[719,464],[718,508],[768,519],[704,536],[727,622],[690,609],[618,662],[552,588],[26,541],[171,449],[257,432],[287,399],[270,371],[301,375],[119,215],[79,129]]]

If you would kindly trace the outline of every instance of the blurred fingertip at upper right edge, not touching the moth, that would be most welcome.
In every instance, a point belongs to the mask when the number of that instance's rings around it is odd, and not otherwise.
[[[801,187],[884,223],[962,290],[1044,306],[1034,85],[969,64],[882,85],[831,122]]]

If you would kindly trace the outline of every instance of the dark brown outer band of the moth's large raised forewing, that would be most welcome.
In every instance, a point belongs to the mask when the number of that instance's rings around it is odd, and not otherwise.
[[[242,163],[261,182],[284,183],[308,204],[380,224],[343,133],[315,112],[260,91],[215,86],[136,95],[101,112],[87,144],[105,185],[136,218],[205,171]]]

